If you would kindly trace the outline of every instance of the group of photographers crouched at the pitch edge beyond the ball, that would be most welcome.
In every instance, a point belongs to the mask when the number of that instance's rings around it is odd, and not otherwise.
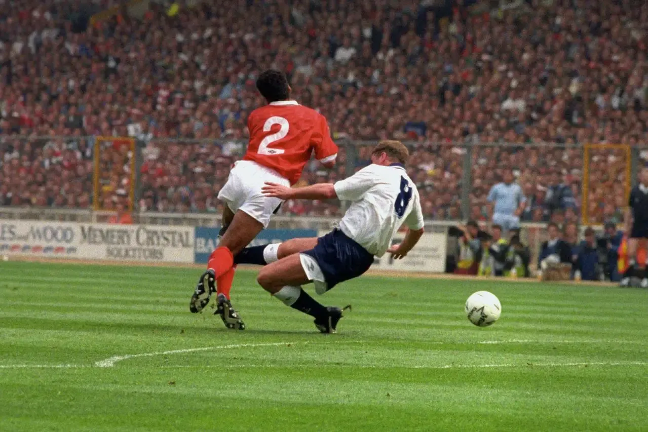
[[[530,230],[533,231],[533,230]],[[457,250],[448,255],[447,271],[458,275],[522,278],[537,269],[543,280],[612,280],[618,282],[628,266],[627,238],[614,223],[606,223],[597,235],[586,227],[583,235],[575,222],[548,223],[548,236],[536,254],[526,245],[520,229],[504,231],[475,220],[452,227]],[[527,233],[532,234],[537,233]],[[640,245],[640,260],[646,248]],[[537,258],[537,262],[532,262]],[[642,267],[644,267],[642,265]]]

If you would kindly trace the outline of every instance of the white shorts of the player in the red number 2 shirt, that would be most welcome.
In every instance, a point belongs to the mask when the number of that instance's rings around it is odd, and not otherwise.
[[[218,192],[218,199],[225,201],[233,212],[242,210],[268,227],[272,214],[283,202],[279,198],[268,198],[261,192],[266,181],[290,187],[290,181],[278,172],[253,161],[237,161],[229,172],[227,183]]]

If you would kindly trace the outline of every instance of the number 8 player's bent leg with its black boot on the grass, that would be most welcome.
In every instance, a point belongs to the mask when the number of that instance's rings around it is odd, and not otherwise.
[[[302,284],[310,280],[303,269],[299,254],[295,253],[263,267],[257,282],[286,306],[314,317],[315,326],[320,332],[336,333],[343,310],[323,306],[301,288]]]

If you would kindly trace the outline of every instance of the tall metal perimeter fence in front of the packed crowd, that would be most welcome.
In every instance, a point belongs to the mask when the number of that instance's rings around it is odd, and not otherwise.
[[[102,203],[99,209],[114,211],[128,201],[142,220],[161,218],[172,223],[188,220],[218,220],[218,190],[227,180],[231,163],[242,157],[246,141],[238,139],[137,139],[135,167],[95,163],[95,137],[0,137],[0,211],[7,207],[88,209],[97,194],[100,177]],[[104,137],[104,139],[106,139]],[[117,137],[115,137],[117,139]],[[369,163],[376,141],[336,140],[340,146],[338,165],[331,172],[312,161],[301,183],[336,181]],[[504,170],[513,169],[529,198],[523,214],[527,222],[557,218],[583,223],[619,222],[636,170],[648,159],[648,147],[501,142],[406,142],[411,150],[408,172],[419,188],[424,214],[434,221],[483,219],[487,217],[487,195]],[[110,152],[111,146],[105,146]],[[115,150],[117,152],[117,150]],[[110,161],[112,155],[104,155]],[[97,176],[97,169],[108,169]],[[97,168],[99,167],[99,168]],[[104,167],[104,168],[101,168]],[[552,178],[557,174],[557,178]],[[122,190],[130,176],[134,203]],[[93,178],[95,180],[93,180]],[[559,182],[573,194],[573,205],[561,209],[548,197],[546,188]],[[108,188],[108,192],[104,190]],[[112,199],[110,196],[112,194]],[[555,201],[555,197],[553,197]],[[344,203],[288,203],[285,216],[340,216]],[[39,217],[36,209],[16,215]],[[21,210],[22,211],[22,210]],[[57,213],[56,217],[82,217]],[[84,213],[85,214],[85,213]],[[168,216],[174,214],[174,216]],[[157,215],[157,216],[155,216]],[[51,216],[47,216],[51,217]],[[83,216],[86,218],[87,216]],[[97,214],[93,217],[98,217]]]

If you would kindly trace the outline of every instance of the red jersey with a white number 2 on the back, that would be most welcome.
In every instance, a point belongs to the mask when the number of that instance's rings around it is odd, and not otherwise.
[[[272,102],[249,115],[245,161],[275,170],[297,183],[311,153],[321,163],[334,161],[338,146],[330,138],[325,117],[294,100]]]

